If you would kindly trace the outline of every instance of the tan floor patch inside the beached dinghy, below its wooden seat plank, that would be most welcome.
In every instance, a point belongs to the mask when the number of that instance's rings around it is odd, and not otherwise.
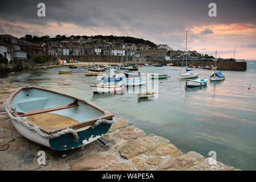
[[[30,115],[27,117],[27,121],[30,121],[38,126],[50,128],[69,126],[79,123],[75,119],[53,113]]]

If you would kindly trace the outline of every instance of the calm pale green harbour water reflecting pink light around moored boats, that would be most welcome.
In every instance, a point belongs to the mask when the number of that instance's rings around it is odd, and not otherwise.
[[[224,164],[256,170],[256,61],[248,61],[245,72],[222,71],[225,81],[208,82],[200,88],[185,89],[185,80],[178,79],[180,69],[139,68],[141,73],[170,76],[159,80],[156,100],[140,101],[136,94],[140,87],[133,93],[93,94],[90,85],[99,82],[97,77],[58,74],[59,70],[70,71],[68,67],[18,73],[13,79],[89,101],[117,118],[129,119],[147,134],[169,139],[184,153],[196,151],[207,158],[215,151],[217,160]],[[194,70],[203,78],[214,72]]]

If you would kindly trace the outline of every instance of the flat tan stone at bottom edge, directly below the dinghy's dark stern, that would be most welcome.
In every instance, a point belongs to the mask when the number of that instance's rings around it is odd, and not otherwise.
[[[71,165],[71,171],[85,171],[91,169],[97,169],[105,166],[115,160],[116,157],[113,155],[101,156],[99,154],[92,154],[85,156],[78,160],[78,162]]]

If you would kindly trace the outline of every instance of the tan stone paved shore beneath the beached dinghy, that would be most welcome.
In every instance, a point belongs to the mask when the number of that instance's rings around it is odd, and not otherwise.
[[[195,151],[184,154],[168,139],[129,125],[116,118],[111,129],[99,141],[84,149],[54,151],[22,137],[5,112],[5,102],[22,84],[0,80],[0,170],[238,170]],[[38,151],[46,153],[46,164],[39,165]]]

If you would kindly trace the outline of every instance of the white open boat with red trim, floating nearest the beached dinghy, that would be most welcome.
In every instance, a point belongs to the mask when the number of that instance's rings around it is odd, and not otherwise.
[[[94,93],[120,93],[123,85],[90,85]]]

